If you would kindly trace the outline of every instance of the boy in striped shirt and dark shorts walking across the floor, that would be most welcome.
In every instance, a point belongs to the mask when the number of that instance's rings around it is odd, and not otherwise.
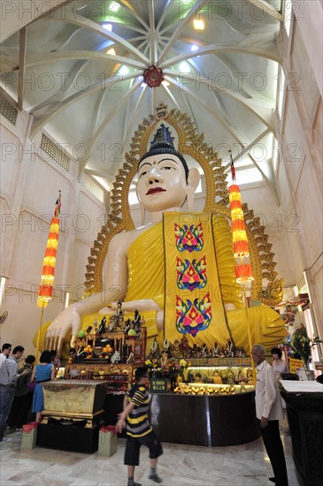
[[[125,464],[127,464],[127,486],[141,486],[135,482],[135,466],[139,466],[139,452],[142,445],[150,450],[150,475],[154,482],[163,480],[157,475],[157,459],[163,453],[162,445],[155,436],[150,421],[148,420],[149,397],[147,386],[149,383],[148,368],[136,368],[135,385],[127,391],[123,402],[123,412],[119,414],[117,430],[127,429],[127,443],[125,452]]]

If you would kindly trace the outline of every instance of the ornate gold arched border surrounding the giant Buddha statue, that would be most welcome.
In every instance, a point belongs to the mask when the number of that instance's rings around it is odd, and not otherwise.
[[[101,232],[97,234],[91,254],[88,257],[87,273],[85,274],[87,293],[101,292],[103,290],[104,259],[112,237],[125,230],[135,228],[130,214],[128,192],[130,184],[135,177],[139,160],[149,149],[150,140],[158,128],[158,124],[171,125],[178,137],[178,151],[183,156],[191,156],[202,167],[205,176],[205,204],[204,212],[217,213],[230,220],[229,192],[227,188],[227,173],[225,164],[214,151],[211,144],[204,141],[204,133],[197,133],[196,126],[186,113],[179,110],[167,111],[163,103],[158,105],[155,115],[143,118],[138,125],[135,135],[130,143],[130,150],[126,153],[126,162],[113,183],[111,195],[111,213]],[[251,287],[251,297],[255,300],[271,301],[270,305],[281,301],[282,281],[278,280],[274,271],[276,263],[273,262],[272,245],[268,243],[265,226],[260,224],[260,218],[254,216],[248,204],[242,204],[246,232],[250,244],[250,263],[254,275]],[[263,279],[268,280],[264,289]]]

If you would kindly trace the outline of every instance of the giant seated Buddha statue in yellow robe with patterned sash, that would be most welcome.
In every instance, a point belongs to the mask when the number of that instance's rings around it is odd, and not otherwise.
[[[112,313],[118,301],[126,315],[136,310],[144,316],[148,337],[158,338],[160,346],[164,338],[185,336],[189,346],[211,348],[215,340],[226,346],[231,339],[248,350],[247,318],[253,343],[279,343],[286,334],[280,315],[263,305],[246,314],[227,217],[193,212],[199,171],[188,169],[164,124],[140,157],[137,174],[142,215],[147,212],[150,222],[143,224],[143,218],[142,226],[112,237],[104,291],[73,303],[44,328],[45,347],[60,352],[70,331],[73,344],[100,309]],[[188,210],[182,212],[185,202]]]

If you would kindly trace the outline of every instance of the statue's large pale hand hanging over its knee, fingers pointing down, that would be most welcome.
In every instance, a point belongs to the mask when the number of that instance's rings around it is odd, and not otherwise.
[[[64,338],[68,330],[72,330],[71,347],[75,347],[78,330],[81,327],[81,315],[78,304],[65,308],[50,324],[45,338],[45,349],[56,349],[61,355]]]

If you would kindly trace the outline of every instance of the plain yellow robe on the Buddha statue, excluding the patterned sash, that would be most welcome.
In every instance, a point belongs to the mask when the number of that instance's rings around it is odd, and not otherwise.
[[[165,230],[165,228],[164,228]],[[152,299],[158,306],[165,310],[165,252],[163,223],[151,226],[135,239],[129,247],[127,254],[128,286],[125,301]],[[167,229],[166,229],[167,231]],[[242,304],[242,292],[240,285],[235,282],[235,258],[233,254],[232,232],[223,216],[212,216],[212,232],[215,245],[216,262],[219,273],[219,283],[223,304],[234,304],[235,310],[227,311],[227,324],[232,332],[235,346],[243,346],[245,351],[250,353],[247,314]],[[156,325],[156,312],[141,312],[148,329],[147,353],[150,351],[152,338],[158,338],[159,345],[162,344],[164,334],[159,333]],[[126,316],[127,317],[127,316]],[[133,317],[129,315],[129,317]],[[92,314],[82,318],[81,329],[87,330],[95,320],[100,323],[103,315]],[[212,316],[216,327],[215,340],[219,346],[226,346],[229,339],[227,324],[217,322],[217,315]],[[255,308],[248,308],[248,321],[252,344],[260,344],[266,349],[277,346],[286,336],[286,329],[281,316],[272,308],[261,305]],[[50,323],[42,326],[41,343],[44,342],[46,331]],[[178,337],[181,338],[178,333]],[[65,353],[68,353],[71,333],[65,338]],[[203,337],[196,335],[195,338],[188,336],[190,345],[196,343],[201,345],[205,342],[208,347],[214,345],[204,333]],[[211,338],[214,337],[212,332]]]

